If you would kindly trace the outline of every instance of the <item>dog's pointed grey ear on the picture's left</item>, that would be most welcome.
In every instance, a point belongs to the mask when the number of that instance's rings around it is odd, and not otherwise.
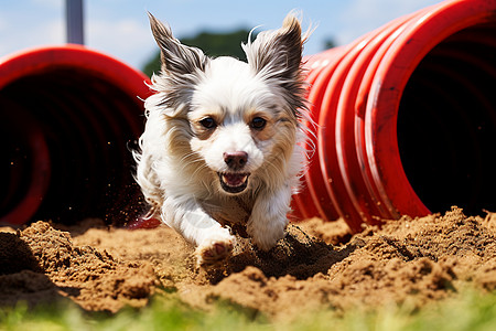
[[[160,47],[163,73],[184,76],[194,74],[198,70],[205,71],[208,57],[201,50],[181,44],[172,35],[169,26],[157,20],[151,13],[148,13],[148,18],[153,36]]]

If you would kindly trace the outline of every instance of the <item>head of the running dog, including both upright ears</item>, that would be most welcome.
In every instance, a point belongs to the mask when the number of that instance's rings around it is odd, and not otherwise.
[[[248,63],[207,57],[151,14],[150,22],[162,61],[153,84],[175,136],[188,141],[181,153],[202,160],[225,193],[276,183],[288,171],[306,109],[299,20],[289,14],[281,29],[244,44]]]

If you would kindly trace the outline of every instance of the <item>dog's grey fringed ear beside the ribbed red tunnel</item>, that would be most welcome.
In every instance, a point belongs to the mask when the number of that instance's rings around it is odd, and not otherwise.
[[[288,102],[298,116],[299,108],[305,107],[304,82],[301,74],[302,38],[300,20],[290,12],[282,28],[260,32],[254,42],[242,45],[248,64],[269,84],[282,87]]]

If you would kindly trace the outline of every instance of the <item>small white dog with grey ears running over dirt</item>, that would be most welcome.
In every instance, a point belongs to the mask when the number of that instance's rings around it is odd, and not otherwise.
[[[234,229],[269,250],[285,235],[291,196],[306,169],[309,120],[301,22],[241,44],[247,62],[181,44],[149,13],[161,51],[136,181],[158,217],[195,247],[198,265],[225,260]]]

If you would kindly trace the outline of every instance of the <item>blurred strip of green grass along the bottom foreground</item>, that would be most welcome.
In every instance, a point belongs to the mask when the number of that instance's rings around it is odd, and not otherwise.
[[[496,293],[464,290],[455,299],[420,310],[408,305],[384,306],[368,312],[348,310],[344,316],[323,310],[291,322],[269,322],[259,313],[226,302],[211,312],[200,311],[172,296],[158,297],[143,309],[125,309],[117,314],[88,313],[66,302],[35,310],[19,305],[0,309],[0,330],[496,330]]]

